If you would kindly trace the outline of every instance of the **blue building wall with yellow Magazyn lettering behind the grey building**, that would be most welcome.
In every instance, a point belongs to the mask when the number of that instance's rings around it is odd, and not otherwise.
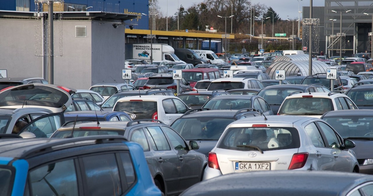
[[[149,13],[148,0],[64,0],[63,4],[65,12],[104,11],[138,15]],[[35,12],[35,7],[34,0],[0,0],[0,10]],[[147,16],[139,16],[126,23],[138,24],[134,25],[135,29],[148,29]]]

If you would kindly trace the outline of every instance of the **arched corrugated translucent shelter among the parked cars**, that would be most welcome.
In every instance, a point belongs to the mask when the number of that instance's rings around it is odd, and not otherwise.
[[[295,56],[295,55],[289,55]],[[278,61],[271,64],[266,73],[272,79],[275,79],[275,70],[285,70],[285,80],[286,76],[290,75],[300,75],[307,76],[308,75],[308,61]],[[312,61],[312,74],[319,74],[319,73],[326,73],[326,69],[330,68],[325,62],[322,61]]]

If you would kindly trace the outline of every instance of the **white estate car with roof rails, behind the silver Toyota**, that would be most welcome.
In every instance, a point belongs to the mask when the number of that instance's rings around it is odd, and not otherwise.
[[[296,115],[320,118],[332,110],[358,109],[347,95],[340,91],[329,93],[298,93],[283,100],[277,115]]]

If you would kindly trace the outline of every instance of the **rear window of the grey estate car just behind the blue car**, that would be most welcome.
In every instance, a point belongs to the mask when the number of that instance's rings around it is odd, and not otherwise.
[[[53,138],[66,138],[71,134],[71,131],[57,131],[53,134]],[[91,135],[124,135],[124,130],[109,130],[109,129],[81,129],[74,130],[73,137],[83,137]]]

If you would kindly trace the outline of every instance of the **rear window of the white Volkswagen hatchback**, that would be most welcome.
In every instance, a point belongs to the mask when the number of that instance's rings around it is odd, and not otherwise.
[[[134,114],[134,120],[151,119],[153,114],[157,112],[157,102],[141,100],[117,102],[113,111],[125,112],[130,116]]]

